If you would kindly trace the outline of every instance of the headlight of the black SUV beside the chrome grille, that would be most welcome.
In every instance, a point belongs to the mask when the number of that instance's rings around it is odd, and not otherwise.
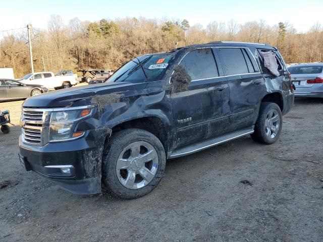
[[[74,131],[74,125],[77,120],[90,113],[91,108],[52,112],[49,122],[49,141],[73,140],[83,136],[83,131]]]

